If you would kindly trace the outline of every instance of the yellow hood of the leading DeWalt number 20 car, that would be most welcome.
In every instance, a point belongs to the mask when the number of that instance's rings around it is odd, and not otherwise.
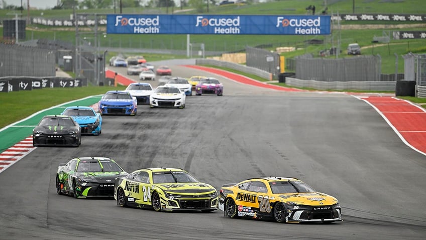
[[[308,206],[328,206],[338,203],[335,197],[319,192],[274,194],[274,196],[281,198],[283,202],[294,202]]]

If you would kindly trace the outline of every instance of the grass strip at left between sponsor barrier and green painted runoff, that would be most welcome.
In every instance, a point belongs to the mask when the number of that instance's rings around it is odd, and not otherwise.
[[[0,94],[0,128],[30,116],[42,109],[87,96],[104,94],[125,87],[46,88]]]

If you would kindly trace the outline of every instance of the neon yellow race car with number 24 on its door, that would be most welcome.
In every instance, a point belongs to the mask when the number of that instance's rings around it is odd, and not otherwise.
[[[177,168],[148,168],[116,179],[114,198],[122,207],[155,211],[218,209],[218,193],[206,183]]]

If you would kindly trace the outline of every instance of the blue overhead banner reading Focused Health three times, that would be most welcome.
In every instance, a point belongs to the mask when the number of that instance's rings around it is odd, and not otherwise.
[[[329,35],[326,15],[107,15],[109,34]]]

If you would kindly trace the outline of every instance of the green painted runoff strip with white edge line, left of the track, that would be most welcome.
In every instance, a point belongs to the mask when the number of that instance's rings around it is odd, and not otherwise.
[[[46,115],[59,115],[66,107],[91,106],[99,102],[102,95],[90,96],[39,111],[21,121],[0,129],[0,152],[31,136],[34,127]]]

